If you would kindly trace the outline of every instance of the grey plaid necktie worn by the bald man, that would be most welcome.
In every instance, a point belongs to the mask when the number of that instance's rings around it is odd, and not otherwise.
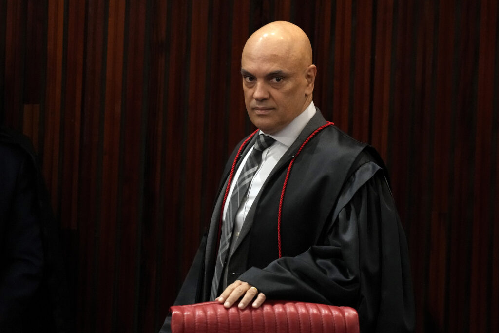
[[[211,300],[214,300],[218,295],[218,288],[220,280],[222,279],[222,271],[227,259],[229,247],[231,245],[232,230],[236,219],[236,213],[239,210],[241,201],[246,196],[246,192],[250,187],[251,180],[253,179],[258,165],[261,161],[261,153],[265,148],[269,147],[275,139],[260,134],[256,138],[256,143],[251,150],[250,156],[246,160],[246,164],[239,175],[238,182],[234,187],[229,205],[227,206],[227,213],[225,215],[224,223],[222,224],[222,235],[220,237],[220,248],[217,255],[217,263],[215,264],[215,275],[213,276]]]

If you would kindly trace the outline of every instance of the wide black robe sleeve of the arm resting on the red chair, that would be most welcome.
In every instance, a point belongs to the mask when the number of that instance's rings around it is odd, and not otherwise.
[[[353,307],[361,332],[413,332],[407,241],[381,168],[359,167],[332,211],[322,241],[240,280],[267,299]]]

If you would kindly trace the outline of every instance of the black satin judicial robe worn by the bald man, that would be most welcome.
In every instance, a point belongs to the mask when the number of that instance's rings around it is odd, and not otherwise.
[[[353,307],[361,332],[412,332],[408,248],[385,166],[372,147],[337,127],[322,129],[294,160],[278,258],[277,216],[287,167],[310,133],[325,123],[317,109],[263,184],[243,226],[249,230],[226,265],[228,284],[246,281],[267,300]],[[224,172],[208,237],[176,304],[209,300],[221,197],[238,148]]]

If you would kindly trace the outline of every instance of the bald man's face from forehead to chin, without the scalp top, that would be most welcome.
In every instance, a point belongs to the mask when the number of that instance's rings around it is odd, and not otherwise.
[[[312,100],[315,66],[277,52],[243,51],[241,74],[251,122],[273,134],[298,116]]]

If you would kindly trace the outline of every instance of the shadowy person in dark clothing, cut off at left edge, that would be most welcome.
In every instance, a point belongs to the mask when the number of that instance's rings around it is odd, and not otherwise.
[[[74,332],[48,195],[30,141],[0,127],[0,332]]]

